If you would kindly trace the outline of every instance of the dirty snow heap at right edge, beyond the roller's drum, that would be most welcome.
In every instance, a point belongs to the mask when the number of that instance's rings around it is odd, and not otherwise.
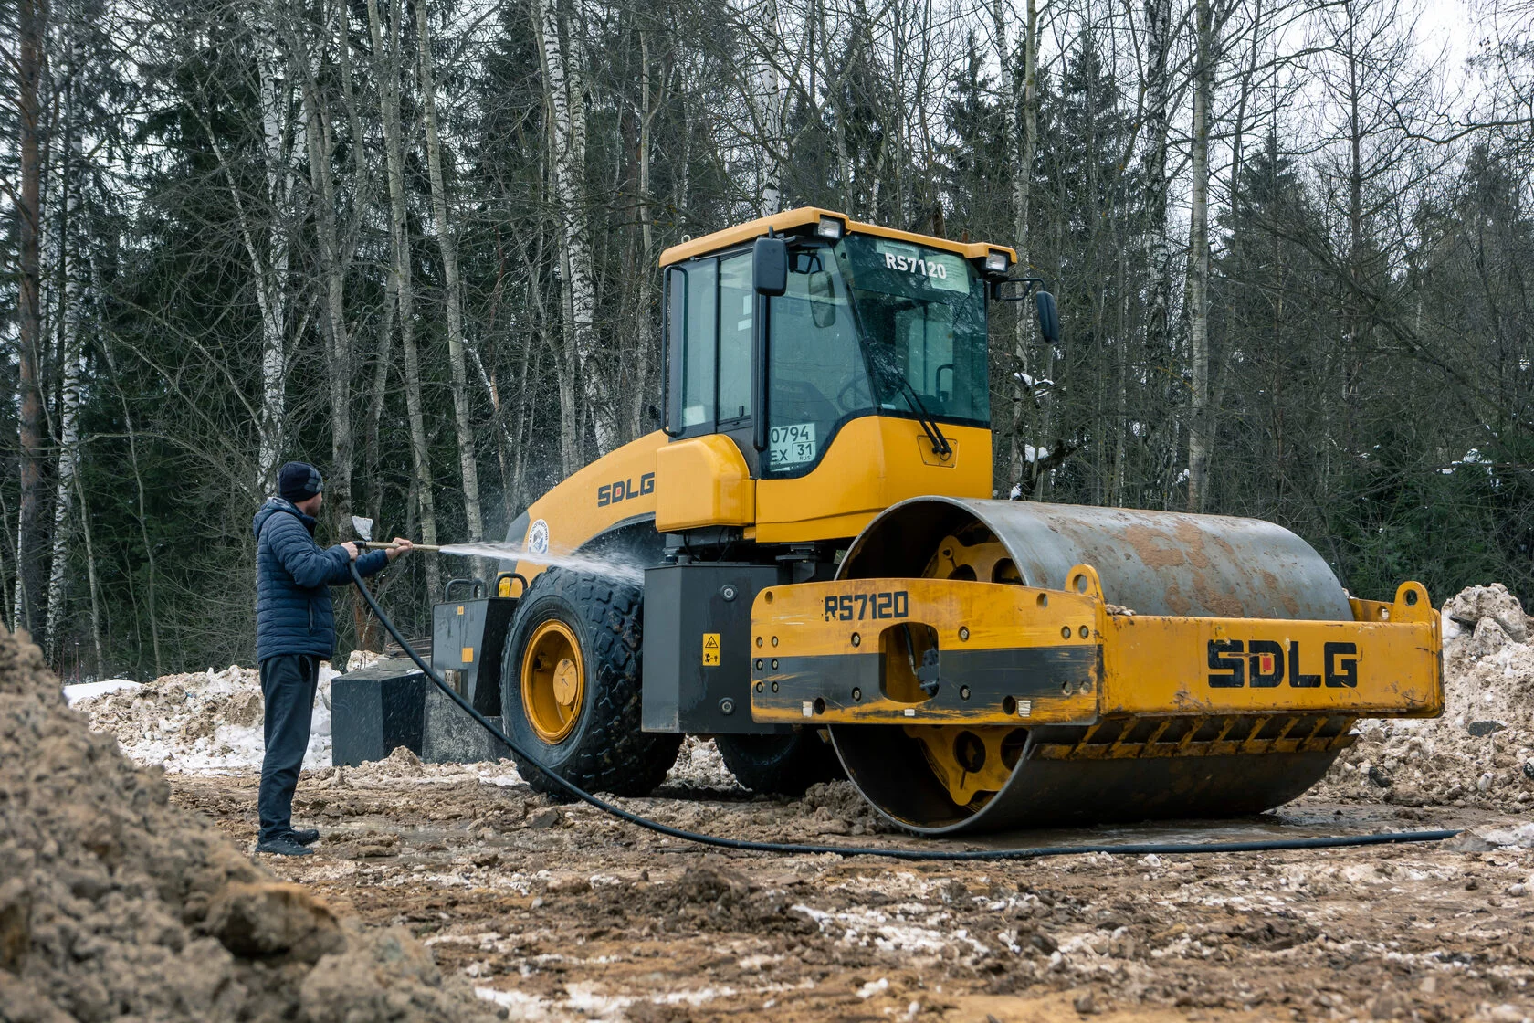
[[[1322,799],[1401,805],[1534,802],[1534,643],[1500,583],[1443,604],[1443,716],[1371,719],[1310,790]]]

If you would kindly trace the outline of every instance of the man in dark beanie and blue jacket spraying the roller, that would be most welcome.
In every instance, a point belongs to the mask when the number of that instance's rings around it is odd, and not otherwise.
[[[265,704],[267,752],[261,761],[261,834],[258,853],[307,856],[319,831],[293,830],[293,790],[308,748],[310,716],[319,663],[336,652],[336,618],[330,587],[351,581],[348,564],[373,575],[411,549],[394,538],[388,551],[357,552],[354,543],[321,548],[314,515],[324,505],[324,480],[307,462],[278,472],[278,497],[256,512],[256,660]]]

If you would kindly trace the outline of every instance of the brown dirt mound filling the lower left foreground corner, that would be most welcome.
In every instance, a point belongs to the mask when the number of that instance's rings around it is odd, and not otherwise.
[[[407,933],[337,920],[169,796],[0,629],[0,1017],[495,1018]]]

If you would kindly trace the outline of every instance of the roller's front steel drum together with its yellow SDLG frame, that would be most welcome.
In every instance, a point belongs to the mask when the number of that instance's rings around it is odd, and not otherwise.
[[[1442,712],[1419,583],[1351,598],[1253,520],[1016,505],[913,502],[841,578],[753,604],[752,718],[830,727],[902,827],[1258,813],[1321,778],[1358,718]]]

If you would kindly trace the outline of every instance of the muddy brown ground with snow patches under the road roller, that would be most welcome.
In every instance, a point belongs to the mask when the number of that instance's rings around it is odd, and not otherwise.
[[[1023,863],[769,857],[707,851],[589,807],[554,805],[512,778],[497,784],[483,770],[440,767],[407,767],[400,778],[305,773],[295,816],[325,833],[318,854],[262,859],[342,914],[410,928],[443,971],[472,979],[509,1018],[1534,1015],[1534,850],[1462,837]],[[209,814],[249,848],[253,775],[170,782],[175,802]],[[877,830],[845,785],[805,801],[673,785],[623,802],[733,837],[919,842]],[[1467,805],[1302,799],[1215,825],[1011,840],[1427,827],[1485,834],[1525,819]],[[851,837],[870,830],[877,833]]]

